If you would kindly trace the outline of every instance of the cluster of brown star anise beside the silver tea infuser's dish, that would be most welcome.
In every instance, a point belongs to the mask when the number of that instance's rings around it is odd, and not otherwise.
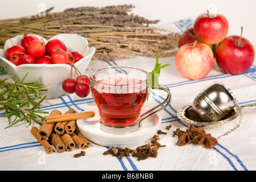
[[[218,144],[217,139],[212,137],[211,134],[207,134],[203,127],[195,127],[193,124],[186,131],[176,129],[173,133],[172,137],[175,137],[175,135],[178,137],[177,146],[184,146],[184,144],[193,141],[197,144],[204,144],[207,148],[212,148]]]

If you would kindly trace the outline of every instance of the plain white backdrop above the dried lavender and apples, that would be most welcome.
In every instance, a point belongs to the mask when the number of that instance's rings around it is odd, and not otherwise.
[[[206,13],[210,3],[215,3],[217,13],[225,15],[229,21],[229,35],[240,35],[241,26],[243,26],[243,37],[256,46],[255,0],[9,0],[1,3],[0,19],[38,14],[40,3],[44,3],[47,9],[54,6],[52,12],[80,6],[102,7],[132,4],[135,8],[131,13],[150,20],[159,19],[160,25],[184,18],[195,18],[201,13]]]

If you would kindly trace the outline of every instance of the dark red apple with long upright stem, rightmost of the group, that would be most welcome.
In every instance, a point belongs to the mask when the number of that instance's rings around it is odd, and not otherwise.
[[[216,62],[222,72],[238,75],[246,72],[254,61],[254,47],[241,36],[228,36],[216,48]]]

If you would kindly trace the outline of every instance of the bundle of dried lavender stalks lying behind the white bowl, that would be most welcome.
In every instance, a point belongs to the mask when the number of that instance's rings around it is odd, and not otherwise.
[[[0,20],[0,47],[7,35],[11,38],[22,34],[36,34],[46,39],[57,34],[78,34],[88,39],[96,48],[93,60],[117,60],[143,55],[155,57],[174,56],[180,36],[174,32],[159,33],[159,28],[150,27],[159,20],[148,20],[129,14],[133,5],[105,7],[77,7],[45,16],[27,16]]]

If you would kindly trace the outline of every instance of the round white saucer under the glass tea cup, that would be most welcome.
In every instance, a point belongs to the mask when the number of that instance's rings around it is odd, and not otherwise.
[[[147,110],[147,108],[142,108],[141,113],[143,114]],[[93,118],[79,119],[76,121],[80,133],[88,140],[108,147],[130,147],[141,144],[157,134],[162,121],[158,114],[154,114],[145,119],[142,122],[142,127],[134,133],[123,135],[109,134],[100,129],[100,116],[97,106],[88,111],[94,111],[95,116]]]

